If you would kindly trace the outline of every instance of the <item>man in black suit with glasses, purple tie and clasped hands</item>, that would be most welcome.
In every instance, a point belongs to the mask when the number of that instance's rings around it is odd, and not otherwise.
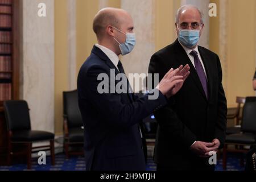
[[[226,98],[216,53],[197,46],[203,18],[197,7],[185,5],[176,14],[177,40],[152,55],[149,73],[159,79],[170,68],[189,64],[183,87],[155,111],[158,121],[154,159],[158,170],[213,170],[209,152],[225,142]]]

